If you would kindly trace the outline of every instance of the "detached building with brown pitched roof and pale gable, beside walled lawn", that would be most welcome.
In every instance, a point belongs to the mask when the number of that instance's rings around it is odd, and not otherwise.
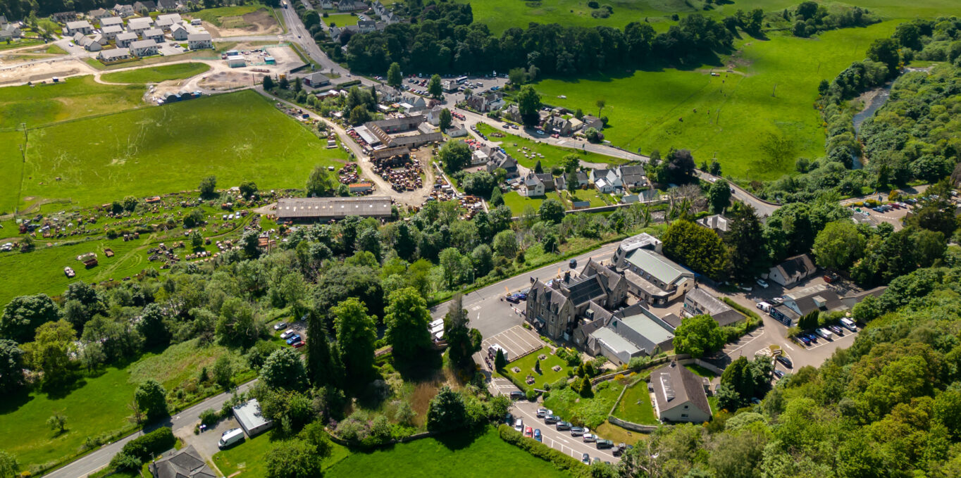
[[[653,370],[648,390],[661,421],[701,423],[711,418],[703,379],[677,362]]]

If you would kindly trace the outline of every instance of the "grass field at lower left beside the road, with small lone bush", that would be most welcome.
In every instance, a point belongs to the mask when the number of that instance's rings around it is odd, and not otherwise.
[[[0,406],[0,430],[4,430],[0,449],[16,455],[27,468],[77,452],[87,437],[132,426],[126,420],[130,415],[127,405],[136,386],[128,377],[127,370],[111,368],[98,377],[83,379],[78,389],[62,397],[34,393],[25,403],[5,398]],[[59,436],[45,423],[55,411],[67,418],[66,432]]]

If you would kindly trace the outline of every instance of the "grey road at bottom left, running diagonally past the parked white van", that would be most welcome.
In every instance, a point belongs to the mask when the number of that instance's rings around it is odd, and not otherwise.
[[[257,380],[252,380],[243,385],[237,387],[237,391],[246,392],[248,389],[254,386]],[[209,397],[208,399],[184,410],[183,412],[173,415],[167,420],[154,424],[148,429],[148,431],[156,429],[160,426],[170,426],[174,429],[189,426],[196,421],[200,420],[200,413],[204,410],[212,408],[214,410],[219,410],[220,407],[224,405],[224,402],[231,397],[230,393],[218,394]],[[79,458],[65,466],[57,468],[43,476],[47,478],[78,478],[81,476],[86,476],[104,466],[111,463],[113,455],[116,455],[120,448],[126,442],[136,439],[143,435],[143,432],[136,432],[133,435],[128,435],[117,442],[112,442],[110,444],[105,444],[101,446],[98,450],[86,454],[84,457]]]

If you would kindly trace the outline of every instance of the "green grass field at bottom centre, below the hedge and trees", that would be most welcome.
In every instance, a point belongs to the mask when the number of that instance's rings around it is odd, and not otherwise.
[[[462,432],[440,439],[399,443],[372,452],[357,452],[328,470],[330,478],[378,476],[488,478],[523,470],[526,476],[569,477],[548,462],[500,439],[497,430],[472,439]]]

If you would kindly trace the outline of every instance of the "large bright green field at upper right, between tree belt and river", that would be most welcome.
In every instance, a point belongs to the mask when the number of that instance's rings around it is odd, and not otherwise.
[[[739,66],[719,77],[708,68],[665,69],[535,87],[545,103],[589,114],[597,114],[595,102],[604,99],[605,139],[629,151],[687,148],[698,163],[717,155],[724,174],[736,179],[776,179],[794,171],[797,157],[824,155],[825,131],[813,108],[821,80],[864,59],[870,43],[891,35],[897,23],[806,39],[738,40],[741,53],[726,63]]]

